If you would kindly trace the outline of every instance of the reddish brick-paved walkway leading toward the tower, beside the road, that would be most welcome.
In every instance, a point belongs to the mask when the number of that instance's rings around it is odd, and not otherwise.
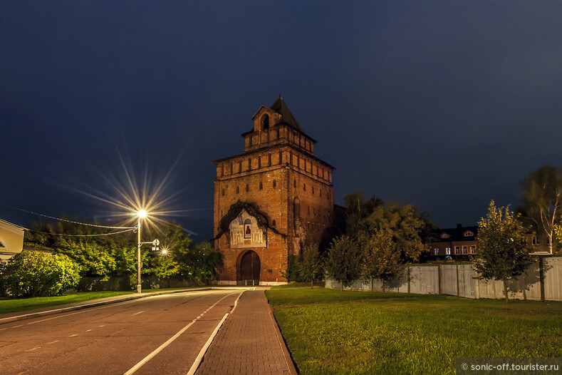
[[[263,289],[241,295],[196,374],[296,374]]]

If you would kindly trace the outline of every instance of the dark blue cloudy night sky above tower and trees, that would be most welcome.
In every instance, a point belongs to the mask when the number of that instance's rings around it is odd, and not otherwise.
[[[561,166],[561,20],[562,1],[1,1],[0,203],[117,223],[98,198],[127,171],[208,240],[211,161],[281,94],[336,203],[476,225]]]

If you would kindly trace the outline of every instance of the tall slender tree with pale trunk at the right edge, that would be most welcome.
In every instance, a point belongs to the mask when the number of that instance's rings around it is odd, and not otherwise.
[[[562,168],[548,165],[536,170],[524,182],[523,209],[539,234],[548,238],[548,250],[553,254],[556,224],[562,215]]]

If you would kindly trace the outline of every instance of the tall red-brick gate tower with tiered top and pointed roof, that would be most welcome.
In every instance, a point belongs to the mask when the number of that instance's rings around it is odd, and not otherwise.
[[[333,215],[332,170],[279,99],[261,106],[244,153],[215,160],[214,247],[219,284],[283,284],[289,255],[318,243]]]

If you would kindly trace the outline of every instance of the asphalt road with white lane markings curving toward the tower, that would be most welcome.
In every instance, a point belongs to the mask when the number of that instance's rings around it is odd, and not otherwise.
[[[0,374],[187,374],[241,292],[166,294],[2,324]]]

